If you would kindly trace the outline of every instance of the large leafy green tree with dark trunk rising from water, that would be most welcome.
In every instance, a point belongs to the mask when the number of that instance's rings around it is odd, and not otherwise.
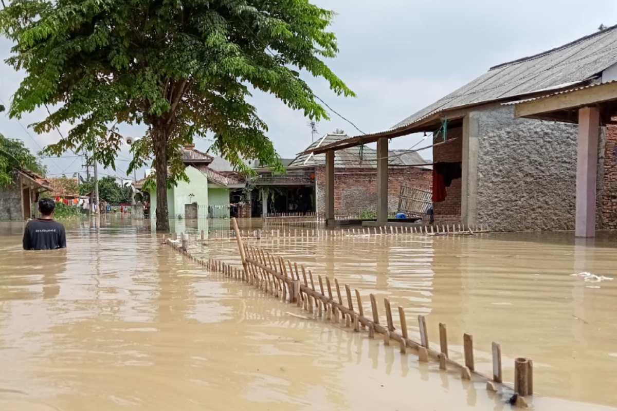
[[[247,102],[251,87],[315,120],[328,113],[301,70],[354,95],[323,61],[338,51],[333,15],[308,0],[15,0],[0,12],[0,32],[15,44],[7,63],[27,75],[10,115],[53,105],[35,131],[75,126],[51,152],[95,141],[97,160],[112,167],[116,124],[146,124],[130,168],[154,157],[157,230],[168,230],[168,179],[184,176],[185,142],[213,137],[239,168],[255,158],[281,169]]]

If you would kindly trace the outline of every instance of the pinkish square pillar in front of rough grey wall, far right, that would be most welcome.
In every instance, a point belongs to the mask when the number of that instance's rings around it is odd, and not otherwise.
[[[576,163],[576,237],[595,237],[595,195],[598,168],[600,112],[597,107],[579,110]]]

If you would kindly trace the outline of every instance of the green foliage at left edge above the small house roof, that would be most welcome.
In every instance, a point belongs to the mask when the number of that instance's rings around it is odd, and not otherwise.
[[[16,168],[46,174],[47,168],[28,150],[21,140],[7,139],[0,134],[0,187],[13,182]]]

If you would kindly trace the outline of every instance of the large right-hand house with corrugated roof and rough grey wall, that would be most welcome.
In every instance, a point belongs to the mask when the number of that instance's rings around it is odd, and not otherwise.
[[[415,132],[433,133],[437,224],[494,230],[570,230],[576,214],[578,128],[515,116],[512,102],[617,79],[617,27],[492,67],[394,128],[315,150],[339,152]],[[510,103],[510,104],[508,104]],[[598,155],[603,156],[605,140]],[[598,176],[607,172],[600,161]],[[610,165],[611,167],[614,165]],[[603,177],[600,177],[603,181]],[[381,192],[387,180],[379,181]],[[614,218],[614,217],[613,217]],[[604,217],[598,219],[602,224]],[[382,217],[381,221],[385,221]]]

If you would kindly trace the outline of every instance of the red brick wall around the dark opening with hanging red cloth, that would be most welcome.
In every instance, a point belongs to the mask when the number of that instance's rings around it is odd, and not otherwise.
[[[448,140],[455,139],[447,144],[433,148],[433,162],[438,163],[463,160],[463,129],[448,130]],[[462,179],[452,180],[450,187],[445,187],[445,201],[434,203],[435,224],[460,224],[461,222],[461,195]]]

